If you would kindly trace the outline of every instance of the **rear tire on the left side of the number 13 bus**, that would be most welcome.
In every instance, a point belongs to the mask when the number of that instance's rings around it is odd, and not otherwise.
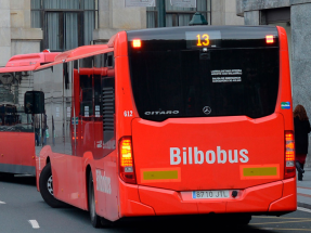
[[[101,217],[99,217],[96,213],[92,171],[90,171],[89,176],[88,196],[89,196],[88,203],[89,203],[91,223],[95,229],[98,229],[101,226]]]

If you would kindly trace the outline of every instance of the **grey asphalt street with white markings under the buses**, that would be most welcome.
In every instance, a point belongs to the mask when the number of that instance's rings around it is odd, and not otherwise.
[[[53,209],[36,189],[34,177],[0,177],[0,233],[79,232],[311,232],[311,210],[299,208],[282,217],[255,216],[247,226],[234,226],[209,217],[139,219],[109,229],[93,229],[89,212],[73,208]]]

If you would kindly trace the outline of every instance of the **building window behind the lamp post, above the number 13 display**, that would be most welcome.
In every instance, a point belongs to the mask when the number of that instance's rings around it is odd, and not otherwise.
[[[187,26],[195,12],[202,13],[210,25],[210,3],[211,0],[197,0],[196,8],[177,8],[166,1],[166,26]],[[159,1],[156,1],[155,8],[147,8],[147,28],[158,27],[157,10]]]

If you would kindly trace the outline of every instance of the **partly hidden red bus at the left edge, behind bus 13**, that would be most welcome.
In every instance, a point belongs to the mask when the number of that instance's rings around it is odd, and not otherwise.
[[[24,93],[34,89],[33,72],[57,54],[14,55],[0,68],[0,172],[4,176],[36,174],[36,137],[33,118],[24,113]]]

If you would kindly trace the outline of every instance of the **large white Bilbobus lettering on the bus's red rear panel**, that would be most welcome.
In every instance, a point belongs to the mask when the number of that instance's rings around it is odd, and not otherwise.
[[[239,155],[239,156],[238,156]],[[204,164],[204,160],[207,164],[236,164],[238,161],[245,164],[248,163],[248,151],[243,150],[222,150],[221,146],[216,147],[216,152],[212,150],[204,151],[198,150],[197,146],[194,147],[170,147],[170,165],[192,165],[194,160],[195,165]]]

